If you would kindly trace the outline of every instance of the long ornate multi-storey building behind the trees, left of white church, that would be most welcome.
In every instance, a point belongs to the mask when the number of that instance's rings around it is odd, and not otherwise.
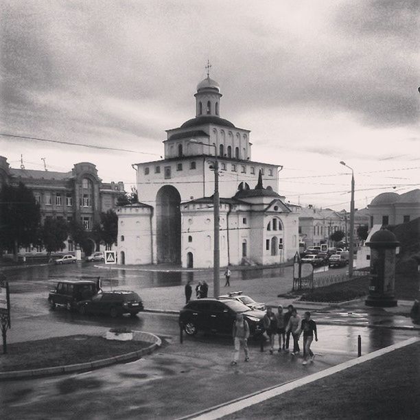
[[[0,187],[3,183],[16,186],[20,182],[32,190],[40,205],[42,222],[48,218],[67,222],[79,219],[88,232],[100,222],[100,213],[115,209],[117,197],[124,194],[124,183],[102,183],[93,163],[75,163],[69,172],[53,172],[13,168],[4,156],[0,156]],[[89,235],[89,242],[90,252],[93,252],[97,244],[92,235]],[[64,250],[74,250],[71,240],[67,240]],[[37,255],[44,252],[40,247],[29,246],[19,253]]]

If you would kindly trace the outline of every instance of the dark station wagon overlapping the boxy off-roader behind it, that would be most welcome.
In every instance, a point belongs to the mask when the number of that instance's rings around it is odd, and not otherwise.
[[[78,311],[82,315],[107,314],[117,318],[122,314],[136,316],[143,310],[140,296],[131,290],[100,290],[91,299],[78,302]]]

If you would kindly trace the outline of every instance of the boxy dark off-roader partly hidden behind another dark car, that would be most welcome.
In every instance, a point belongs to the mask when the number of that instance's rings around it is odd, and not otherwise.
[[[56,288],[50,290],[49,292],[49,305],[53,310],[56,308],[56,305],[65,306],[68,310],[73,310],[77,307],[78,302],[91,299],[91,297],[99,290],[99,288],[99,281],[59,281],[56,285]]]

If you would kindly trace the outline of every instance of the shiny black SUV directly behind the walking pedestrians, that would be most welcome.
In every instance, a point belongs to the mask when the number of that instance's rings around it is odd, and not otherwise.
[[[241,312],[248,321],[250,335],[259,336],[264,333],[262,319],[265,312],[250,310],[238,301],[218,301],[217,299],[198,299],[187,303],[180,310],[179,323],[189,336],[198,331],[214,331],[222,334],[232,334],[236,314]]]

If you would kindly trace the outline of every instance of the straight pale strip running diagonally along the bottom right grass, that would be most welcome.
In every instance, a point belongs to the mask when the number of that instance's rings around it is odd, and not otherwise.
[[[420,338],[417,338],[417,337],[408,338],[408,340],[397,342],[394,345],[384,347],[384,349],[373,351],[372,353],[363,355],[360,358],[348,360],[347,362],[340,363],[337,366],[333,366],[331,368],[325,369],[324,371],[320,371],[312,375],[307,375],[298,380],[294,380],[286,384],[282,384],[280,386],[274,386],[271,388],[267,388],[266,390],[261,390],[258,393],[253,393],[251,395],[242,397],[240,399],[235,399],[226,404],[220,404],[219,406],[208,408],[207,410],[204,410],[202,412],[198,412],[193,415],[183,417],[183,419],[194,419],[194,420],[220,419],[221,417],[230,415],[233,412],[240,411],[246,407],[253,406],[262,401],[266,401],[267,399],[277,397],[278,395],[281,395],[283,393],[287,393],[288,391],[293,390],[295,388],[299,388],[299,386],[310,384],[311,382],[320,380],[323,377],[334,375],[334,373],[338,373],[340,371],[344,371],[345,369],[349,369],[351,366],[362,364],[364,362],[367,362],[368,360],[375,359],[381,355],[390,353],[391,351],[394,351],[396,349],[401,349],[401,347],[406,347],[418,341],[420,341]]]

